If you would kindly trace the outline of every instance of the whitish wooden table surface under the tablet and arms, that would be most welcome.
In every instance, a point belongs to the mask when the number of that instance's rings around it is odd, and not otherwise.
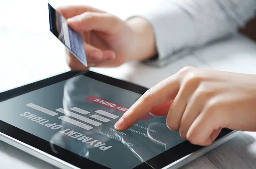
[[[49,2],[53,6],[71,4],[68,0]],[[125,18],[131,14],[131,9],[140,9],[143,0],[140,3],[129,1],[125,5],[117,0],[79,0],[72,4],[93,5]],[[49,32],[47,1],[1,1],[0,15],[0,92],[69,70],[62,44]],[[185,66],[256,74],[255,65],[256,44],[235,36],[191,52],[163,68],[129,63],[91,70],[150,88]],[[256,132],[244,132],[183,168],[256,168],[255,140]],[[1,141],[0,163],[0,168],[55,168]]]

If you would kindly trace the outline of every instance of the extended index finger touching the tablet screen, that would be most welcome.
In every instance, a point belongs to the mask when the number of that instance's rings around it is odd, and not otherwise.
[[[163,105],[175,98],[180,89],[180,82],[176,75],[158,83],[145,92],[140,99],[128,109],[115,124],[117,130],[126,130],[134,123],[146,116],[152,109]]]

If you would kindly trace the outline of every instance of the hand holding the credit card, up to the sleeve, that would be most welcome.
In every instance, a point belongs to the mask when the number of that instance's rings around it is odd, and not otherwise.
[[[142,18],[125,22],[90,6],[66,6],[57,11],[68,19],[71,28],[81,33],[89,67],[117,67],[156,54],[153,31]],[[67,62],[72,69],[87,69],[68,50]]]

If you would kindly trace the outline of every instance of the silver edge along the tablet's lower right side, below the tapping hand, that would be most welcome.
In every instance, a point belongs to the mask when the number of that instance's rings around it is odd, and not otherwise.
[[[187,156],[180,158],[179,160],[165,166],[162,169],[177,169],[180,168],[188,163],[190,163],[191,161],[195,160],[196,158],[204,155],[205,153],[211,151],[212,149],[218,147],[219,145],[227,142],[228,140],[236,137],[237,135],[241,134],[243,131],[238,131],[238,130],[234,130],[231,131],[230,133],[228,133],[227,135],[221,137],[218,141],[212,143],[210,146],[204,147],[198,151],[195,151],[191,154],[188,154]]]

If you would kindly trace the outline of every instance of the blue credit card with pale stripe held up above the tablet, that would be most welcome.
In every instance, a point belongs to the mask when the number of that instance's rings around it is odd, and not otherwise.
[[[80,33],[69,27],[67,19],[57,12],[49,3],[50,31],[87,67],[83,39]]]

